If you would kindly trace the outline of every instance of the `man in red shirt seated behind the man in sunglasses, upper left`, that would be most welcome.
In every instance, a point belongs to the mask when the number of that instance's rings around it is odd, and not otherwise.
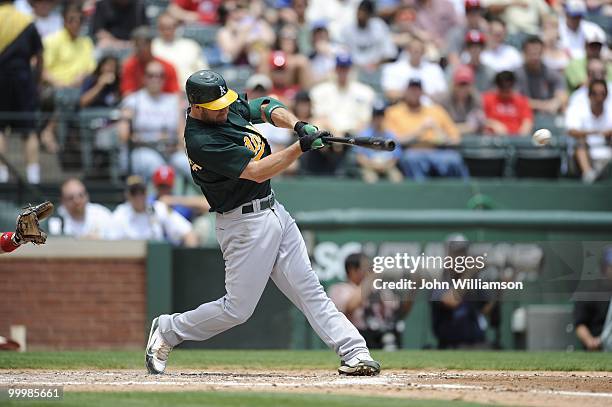
[[[153,33],[148,27],[139,27],[132,33],[134,53],[123,63],[121,74],[121,95],[126,96],[143,87],[145,68],[151,61],[158,61],[164,68],[164,84],[162,92],[175,93],[179,91],[176,70],[167,61],[154,57],[151,52]]]

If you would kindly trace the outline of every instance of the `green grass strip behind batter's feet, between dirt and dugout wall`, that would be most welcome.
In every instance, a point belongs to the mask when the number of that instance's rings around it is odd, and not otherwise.
[[[387,369],[612,371],[612,353],[514,351],[373,352]],[[180,350],[170,355],[179,369],[330,369],[331,351]],[[0,352],[0,369],[144,369],[142,351]]]

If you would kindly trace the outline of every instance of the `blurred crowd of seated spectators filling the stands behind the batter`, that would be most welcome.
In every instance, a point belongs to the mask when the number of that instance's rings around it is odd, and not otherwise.
[[[207,67],[337,136],[397,141],[319,150],[288,175],[466,179],[465,140],[541,127],[568,136],[553,143],[565,173],[594,182],[612,160],[610,0],[4,0],[0,26],[0,152],[21,135],[30,183],[41,147],[65,161],[65,111],[88,109],[103,109],[95,146],[123,176],[189,177],[183,88]],[[83,126],[68,125],[77,142]],[[273,149],[292,140],[259,126]]]

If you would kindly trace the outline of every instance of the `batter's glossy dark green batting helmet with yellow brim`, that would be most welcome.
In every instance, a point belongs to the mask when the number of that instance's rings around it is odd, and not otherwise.
[[[190,104],[210,110],[224,109],[238,99],[238,94],[227,87],[223,76],[206,69],[187,79],[185,92]]]

